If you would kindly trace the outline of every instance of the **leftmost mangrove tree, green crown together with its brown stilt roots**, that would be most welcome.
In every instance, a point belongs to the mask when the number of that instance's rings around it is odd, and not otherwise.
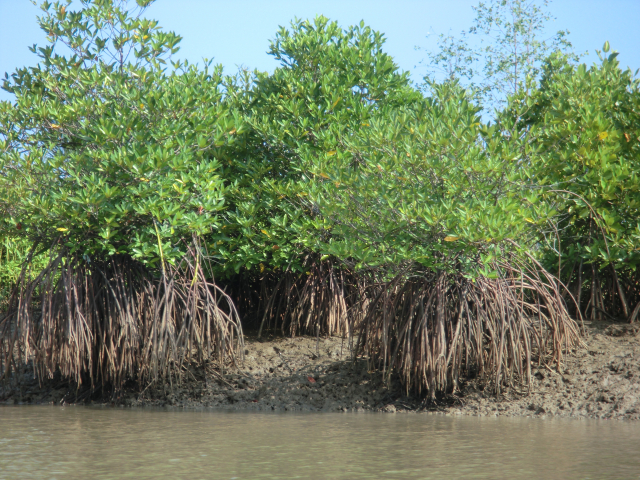
[[[141,18],[150,1],[43,2],[50,45],[0,103],[0,238],[49,253],[0,317],[0,368],[119,388],[225,362],[242,343],[211,279],[228,151],[243,133],[221,68],[175,62],[180,37]],[[241,141],[240,141],[241,143]],[[33,271],[36,268],[40,271]]]

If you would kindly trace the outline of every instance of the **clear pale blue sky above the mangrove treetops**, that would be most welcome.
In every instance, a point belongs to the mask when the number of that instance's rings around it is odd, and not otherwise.
[[[39,2],[38,2],[39,3]],[[271,71],[276,62],[266,54],[279,25],[294,18],[323,14],[343,27],[364,20],[385,33],[387,51],[402,70],[419,81],[425,55],[416,46],[434,48],[439,33],[458,34],[471,26],[478,0],[157,0],[146,12],[167,30],[184,37],[177,55],[190,62],[213,58],[233,73],[238,66]],[[608,40],[620,52],[623,67],[640,68],[640,0],[555,0],[557,17],[550,30],[566,29],[577,52],[594,50]],[[33,65],[28,46],[46,43],[38,29],[39,9],[30,0],[0,0],[0,75]],[[431,35],[429,35],[431,34]],[[0,90],[0,100],[10,99]]]

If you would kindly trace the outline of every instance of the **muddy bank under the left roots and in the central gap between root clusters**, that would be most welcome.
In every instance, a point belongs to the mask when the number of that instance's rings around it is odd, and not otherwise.
[[[190,365],[180,384],[152,384],[142,391],[125,389],[116,398],[101,398],[99,391],[77,391],[62,381],[39,385],[25,370],[20,385],[0,384],[0,403],[360,411],[397,402],[399,384],[386,385],[381,372],[368,372],[366,360],[354,361],[350,351],[348,340],[336,337],[248,336],[238,368]]]

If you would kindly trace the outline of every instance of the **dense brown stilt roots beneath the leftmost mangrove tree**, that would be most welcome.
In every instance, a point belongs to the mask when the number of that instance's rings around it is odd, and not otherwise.
[[[59,250],[35,278],[23,271],[0,319],[0,373],[33,361],[41,378],[119,388],[179,379],[185,361],[235,358],[238,314],[201,262],[194,244],[158,277],[128,256],[88,261]]]

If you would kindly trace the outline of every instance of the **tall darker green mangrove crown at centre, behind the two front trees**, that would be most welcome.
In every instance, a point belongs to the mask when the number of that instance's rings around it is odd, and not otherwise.
[[[295,21],[270,47],[281,67],[235,97],[246,102],[239,108],[251,129],[249,158],[234,162],[238,187],[226,225],[233,235],[219,241],[236,272],[260,264],[302,271],[327,224],[307,201],[314,180],[305,158],[334,155],[342,136],[366,128],[381,109],[421,97],[383,44],[364,24],[342,30],[324,17]]]

